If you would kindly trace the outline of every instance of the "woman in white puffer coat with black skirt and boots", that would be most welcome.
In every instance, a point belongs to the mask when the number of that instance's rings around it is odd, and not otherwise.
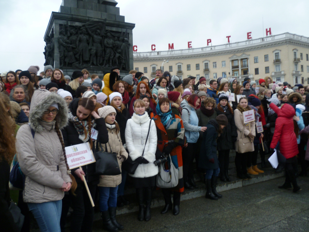
[[[134,187],[138,196],[138,220],[149,221],[151,218],[152,189],[156,185],[156,175],[159,171],[158,167],[154,164],[155,152],[157,150],[157,129],[155,122],[145,113],[144,101],[140,99],[134,101],[133,110],[133,116],[127,121],[125,128],[125,141],[129,156],[133,161],[136,160],[139,165],[135,173],[129,175],[133,177]],[[149,136],[146,141],[148,129]],[[144,208],[145,205],[146,208]]]

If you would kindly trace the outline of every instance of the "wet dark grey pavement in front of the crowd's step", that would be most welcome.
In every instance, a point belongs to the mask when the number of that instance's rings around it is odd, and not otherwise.
[[[137,213],[117,216],[124,231],[188,232],[299,232],[309,231],[309,177],[299,177],[302,191],[281,190],[284,177],[221,192],[218,201],[198,197],[180,203],[180,214],[161,214],[152,208],[150,221],[138,221]],[[102,230],[95,221],[93,231]]]

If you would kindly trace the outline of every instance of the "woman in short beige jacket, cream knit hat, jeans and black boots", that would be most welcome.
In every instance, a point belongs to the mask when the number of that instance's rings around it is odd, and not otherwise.
[[[111,101],[115,98],[112,96],[114,93],[109,95]],[[118,92],[116,93],[120,94]],[[98,112],[100,117],[105,119],[108,131],[108,144],[101,144],[103,146],[100,148],[103,148],[104,152],[116,153],[118,165],[121,170],[121,164],[128,158],[128,153],[121,142],[120,128],[115,120],[116,110],[113,106],[107,105],[99,108]],[[124,229],[116,220],[117,190],[121,181],[121,174],[100,176],[100,183],[98,184],[100,191],[100,211],[104,229],[108,231]]]

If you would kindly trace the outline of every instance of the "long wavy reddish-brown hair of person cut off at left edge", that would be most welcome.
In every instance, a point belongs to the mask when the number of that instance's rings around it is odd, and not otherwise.
[[[0,93],[0,160],[10,162],[16,154],[15,123],[7,112],[4,102],[4,93]],[[8,122],[12,120],[12,125]]]

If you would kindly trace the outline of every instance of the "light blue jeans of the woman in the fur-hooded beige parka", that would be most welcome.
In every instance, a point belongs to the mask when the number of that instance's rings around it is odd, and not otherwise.
[[[35,217],[41,232],[60,232],[62,201],[28,203],[28,208]]]

